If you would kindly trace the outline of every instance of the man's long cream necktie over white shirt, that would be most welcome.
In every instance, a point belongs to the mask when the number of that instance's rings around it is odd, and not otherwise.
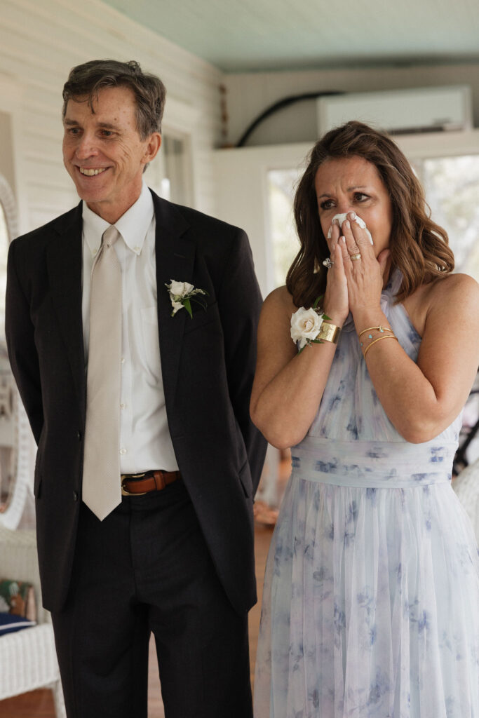
[[[103,233],[90,289],[82,498],[100,521],[121,502],[121,266],[113,247],[118,237],[113,225]]]

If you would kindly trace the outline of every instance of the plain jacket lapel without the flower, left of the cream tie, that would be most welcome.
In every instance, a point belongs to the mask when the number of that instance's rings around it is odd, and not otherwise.
[[[62,216],[57,234],[47,248],[47,269],[52,302],[67,348],[68,360],[82,416],[85,412],[85,355],[82,320],[82,212]]]

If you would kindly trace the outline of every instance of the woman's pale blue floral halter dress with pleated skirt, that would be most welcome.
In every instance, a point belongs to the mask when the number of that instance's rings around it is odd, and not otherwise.
[[[381,307],[416,360],[421,338],[394,305],[400,283],[396,271]],[[348,320],[315,421],[292,449],[266,565],[255,718],[479,718],[478,550],[450,484],[460,424],[404,441]]]

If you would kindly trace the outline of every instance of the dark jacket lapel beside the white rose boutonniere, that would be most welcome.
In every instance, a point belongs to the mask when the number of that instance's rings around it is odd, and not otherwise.
[[[191,282],[195,262],[195,244],[185,238],[189,224],[174,205],[152,192],[156,219],[156,261],[159,350],[162,363],[164,396],[172,406],[180,365],[180,352],[187,312],[180,309],[171,316],[172,304],[165,284],[172,279]]]

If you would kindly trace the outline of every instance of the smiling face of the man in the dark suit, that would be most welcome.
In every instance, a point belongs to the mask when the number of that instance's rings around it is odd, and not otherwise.
[[[157,154],[157,132],[142,140],[130,88],[69,100],[63,120],[63,162],[90,210],[113,224],[136,202],[145,164]]]

